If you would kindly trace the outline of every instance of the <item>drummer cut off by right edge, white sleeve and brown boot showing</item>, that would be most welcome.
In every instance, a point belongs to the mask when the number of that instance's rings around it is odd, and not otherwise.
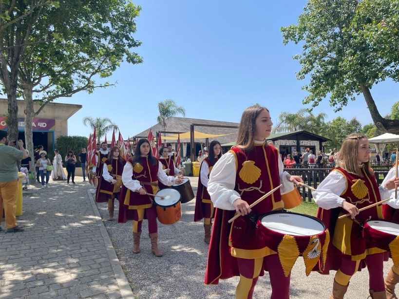
[[[385,187],[386,184],[392,180],[392,178],[396,177],[396,168],[398,165],[395,164],[393,168],[388,171],[385,179],[382,181],[381,186]],[[395,197],[395,189],[390,190],[390,196]],[[399,223],[399,210],[395,209],[389,205],[382,206],[382,214],[384,219],[395,221]],[[385,291],[386,291],[386,298],[387,299],[395,299],[398,298],[395,295],[395,286],[399,282],[399,266],[393,265],[388,272],[388,275],[385,277]]]

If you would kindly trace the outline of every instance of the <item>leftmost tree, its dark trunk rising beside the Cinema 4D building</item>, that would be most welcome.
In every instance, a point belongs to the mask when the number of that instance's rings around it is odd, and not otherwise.
[[[46,6],[57,6],[57,1],[0,1],[0,81],[7,94],[8,133],[13,140],[18,139],[18,68],[26,47],[33,42],[31,34]]]

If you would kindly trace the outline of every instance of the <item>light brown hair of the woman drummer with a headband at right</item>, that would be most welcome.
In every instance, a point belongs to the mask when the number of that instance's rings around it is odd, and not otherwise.
[[[338,160],[338,165],[346,171],[364,176],[363,169],[368,176],[371,176],[373,174],[370,171],[370,159],[367,162],[359,162],[358,148],[361,139],[367,139],[367,136],[358,133],[346,136],[335,157]]]

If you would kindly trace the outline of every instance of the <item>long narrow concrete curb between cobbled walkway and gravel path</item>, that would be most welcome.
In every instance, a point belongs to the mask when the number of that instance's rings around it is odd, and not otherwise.
[[[90,203],[92,204],[95,218],[97,220],[98,227],[100,228],[101,236],[104,239],[105,246],[107,247],[108,258],[110,260],[112,270],[115,275],[116,282],[118,284],[120,294],[123,299],[134,298],[132,288],[130,287],[129,281],[127,280],[125,273],[119,263],[119,259],[116,255],[114,246],[112,245],[111,239],[108,235],[107,229],[105,228],[100,213],[98,212],[97,206],[93,198],[93,194],[90,193],[90,189],[87,190],[87,194],[90,198]]]

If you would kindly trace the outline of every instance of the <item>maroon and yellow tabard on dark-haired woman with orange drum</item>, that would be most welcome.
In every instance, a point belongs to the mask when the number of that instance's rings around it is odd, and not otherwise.
[[[155,194],[158,192],[158,160],[155,165],[152,165],[147,156],[141,156],[140,162],[133,163],[132,158],[128,160],[133,167],[133,180],[140,181],[140,184],[147,190],[148,193]],[[140,195],[138,192],[133,192],[129,188],[122,187],[121,196],[124,199],[123,203],[129,206],[129,209],[149,208],[152,207],[152,199],[149,195]]]

